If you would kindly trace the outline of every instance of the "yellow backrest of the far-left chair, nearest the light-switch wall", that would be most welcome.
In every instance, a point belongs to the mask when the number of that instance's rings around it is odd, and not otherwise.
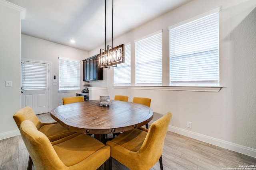
[[[36,126],[36,129],[38,129],[38,130],[42,127],[42,122],[40,122],[40,120],[36,117],[36,114],[34,113],[32,108],[28,107],[28,106],[24,107],[22,109],[19,109],[13,115],[13,119],[16,122],[16,125],[18,126],[18,128],[20,128],[20,124],[24,120],[32,121],[34,123],[34,125]]]

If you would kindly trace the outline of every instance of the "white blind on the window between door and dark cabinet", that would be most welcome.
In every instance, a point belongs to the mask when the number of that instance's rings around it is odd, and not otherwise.
[[[80,89],[80,61],[59,58],[59,90]]]

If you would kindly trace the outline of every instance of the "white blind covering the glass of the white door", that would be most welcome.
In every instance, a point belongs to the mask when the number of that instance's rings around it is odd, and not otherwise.
[[[22,62],[22,89],[44,90],[47,88],[48,64]]]

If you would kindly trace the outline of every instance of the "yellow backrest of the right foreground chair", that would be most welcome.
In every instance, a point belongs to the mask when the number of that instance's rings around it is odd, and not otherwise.
[[[171,118],[172,113],[169,111],[150,125],[148,134],[139,150],[144,156],[148,156],[146,160],[158,160],[160,158]]]

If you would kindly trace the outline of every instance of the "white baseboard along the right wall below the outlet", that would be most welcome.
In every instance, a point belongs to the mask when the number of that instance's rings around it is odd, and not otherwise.
[[[154,121],[150,121],[150,123],[148,123],[148,124],[150,125],[153,122]],[[209,136],[206,136],[206,135],[202,135],[200,133],[191,132],[191,131],[181,129],[181,128],[178,128],[178,127],[174,127],[174,126],[170,126],[170,125],[168,127],[168,131],[178,133],[180,135],[184,135],[184,136],[187,136],[187,137],[190,137],[190,138],[193,138],[193,139],[197,139],[199,141],[210,143],[210,144],[216,145],[218,147],[233,150],[235,152],[242,153],[242,154],[245,154],[245,155],[252,156],[252,157],[256,158],[256,149],[253,149],[253,148],[244,147],[242,145],[238,145],[238,144],[231,143],[231,142],[228,142],[228,141],[224,141],[224,140],[221,140],[221,139],[217,139],[217,138],[214,138],[214,137],[209,137]]]

